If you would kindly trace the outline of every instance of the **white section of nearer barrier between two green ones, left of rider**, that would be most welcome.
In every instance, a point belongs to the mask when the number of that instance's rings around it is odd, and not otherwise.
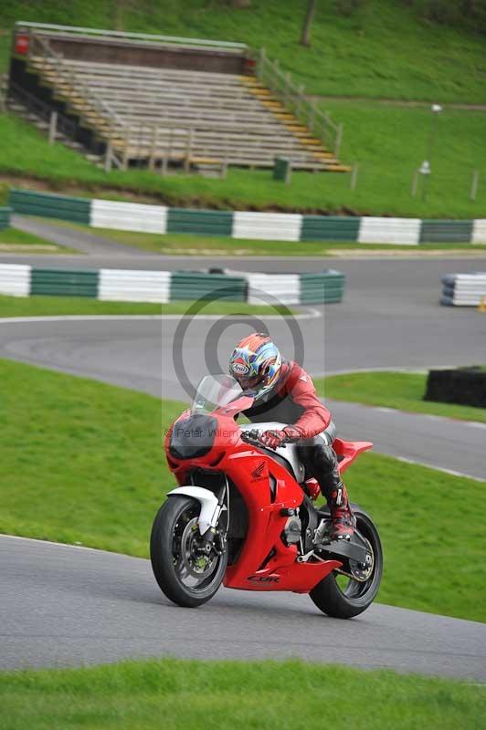
[[[100,269],[98,298],[125,302],[166,304],[171,294],[170,271]]]

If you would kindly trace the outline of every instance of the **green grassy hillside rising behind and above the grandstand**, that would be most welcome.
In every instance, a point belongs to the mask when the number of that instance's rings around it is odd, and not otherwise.
[[[312,47],[299,45],[305,3],[252,0],[12,0],[0,8],[5,70],[16,20],[213,37],[266,47],[309,93],[486,103],[486,39],[433,24],[399,0],[362,0],[350,16],[318,0]]]

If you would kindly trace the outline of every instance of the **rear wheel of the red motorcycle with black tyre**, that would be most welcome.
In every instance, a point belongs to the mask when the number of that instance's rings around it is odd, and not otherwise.
[[[335,571],[322,579],[310,592],[312,601],[322,613],[335,619],[352,619],[363,613],[375,600],[383,573],[383,551],[380,536],[369,515],[360,506],[352,505],[356,529],[370,543],[374,554],[374,567],[365,582],[349,579],[340,585]]]

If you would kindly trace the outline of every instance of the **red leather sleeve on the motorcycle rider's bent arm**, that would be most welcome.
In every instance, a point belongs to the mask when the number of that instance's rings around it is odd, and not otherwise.
[[[285,382],[281,392],[290,396],[294,403],[304,409],[301,417],[292,425],[299,429],[303,438],[311,438],[327,428],[331,422],[331,413],[319,400],[309,373],[297,362],[285,365],[289,369],[289,374],[283,371]]]

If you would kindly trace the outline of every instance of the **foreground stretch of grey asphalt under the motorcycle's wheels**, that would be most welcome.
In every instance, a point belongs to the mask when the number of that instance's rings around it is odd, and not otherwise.
[[[221,589],[199,609],[166,600],[150,563],[98,550],[0,537],[0,667],[128,657],[300,657],[486,681],[486,625],[372,606],[325,617],[308,596]]]

